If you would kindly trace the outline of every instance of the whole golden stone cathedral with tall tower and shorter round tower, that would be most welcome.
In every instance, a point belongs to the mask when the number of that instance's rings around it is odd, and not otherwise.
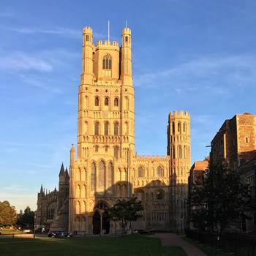
[[[69,172],[61,165],[59,191],[45,193],[41,187],[38,193],[37,227],[116,233],[119,227],[109,221],[108,207],[138,197],[143,217],[132,223],[133,229],[182,232],[190,164],[190,116],[182,110],[168,116],[166,156],[135,154],[131,29],[123,29],[121,46],[110,40],[94,45],[86,26],[78,144],[70,150]]]

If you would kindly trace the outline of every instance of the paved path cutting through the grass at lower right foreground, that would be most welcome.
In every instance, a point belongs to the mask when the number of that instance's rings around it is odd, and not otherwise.
[[[189,242],[182,239],[181,236],[176,236],[173,233],[160,233],[155,234],[153,237],[160,238],[162,246],[181,246],[188,256],[207,256],[195,245],[189,244]]]

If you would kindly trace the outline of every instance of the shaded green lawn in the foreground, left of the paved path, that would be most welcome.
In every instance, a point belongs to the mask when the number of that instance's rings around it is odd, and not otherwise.
[[[186,256],[179,246],[161,246],[158,238],[133,235],[87,238],[0,238],[0,255],[172,255]]]

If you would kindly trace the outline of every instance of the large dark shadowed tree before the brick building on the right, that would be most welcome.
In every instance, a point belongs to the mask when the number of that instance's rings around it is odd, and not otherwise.
[[[247,218],[251,196],[240,177],[238,170],[230,170],[227,164],[210,165],[203,183],[192,193],[192,221],[197,227],[217,229],[221,234],[230,222]]]

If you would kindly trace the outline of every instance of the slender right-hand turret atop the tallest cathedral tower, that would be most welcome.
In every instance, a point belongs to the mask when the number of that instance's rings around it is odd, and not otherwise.
[[[124,86],[132,86],[132,31],[129,28],[122,32],[121,82]]]

